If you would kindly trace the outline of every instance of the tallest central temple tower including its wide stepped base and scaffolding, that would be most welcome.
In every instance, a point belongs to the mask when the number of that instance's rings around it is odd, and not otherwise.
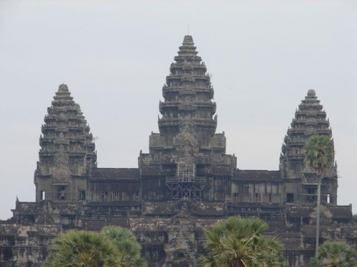
[[[224,133],[216,134],[214,91],[197,53],[192,36],[185,36],[166,77],[160,132],[151,134],[149,154],[139,156],[144,199],[225,200],[231,195],[236,157],[226,155]]]

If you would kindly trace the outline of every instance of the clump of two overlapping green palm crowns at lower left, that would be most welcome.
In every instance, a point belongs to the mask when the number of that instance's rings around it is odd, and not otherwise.
[[[68,231],[49,248],[46,267],[146,266],[141,246],[129,229],[106,226],[101,233]]]

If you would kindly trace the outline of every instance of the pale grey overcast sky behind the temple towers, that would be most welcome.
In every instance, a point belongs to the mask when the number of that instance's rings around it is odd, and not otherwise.
[[[357,212],[357,1],[0,0],[0,218],[34,201],[41,124],[69,85],[99,167],[137,167],[189,33],[211,73],[217,132],[239,169],[278,169],[308,89],[336,145],[338,204]]]

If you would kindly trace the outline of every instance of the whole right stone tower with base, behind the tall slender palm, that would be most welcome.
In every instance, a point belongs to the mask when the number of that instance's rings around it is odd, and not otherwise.
[[[317,200],[317,175],[304,162],[303,147],[312,135],[332,137],[330,122],[326,112],[317,99],[315,90],[308,90],[295,112],[291,127],[284,137],[280,170],[285,182],[287,203],[315,203]],[[337,165],[331,162],[331,168],[325,172],[321,187],[321,202],[336,204],[337,201]]]

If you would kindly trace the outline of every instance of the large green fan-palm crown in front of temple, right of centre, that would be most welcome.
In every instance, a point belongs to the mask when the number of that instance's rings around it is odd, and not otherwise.
[[[207,256],[200,256],[201,267],[283,266],[283,245],[276,238],[263,234],[268,224],[257,218],[233,216],[205,231],[203,245]]]

